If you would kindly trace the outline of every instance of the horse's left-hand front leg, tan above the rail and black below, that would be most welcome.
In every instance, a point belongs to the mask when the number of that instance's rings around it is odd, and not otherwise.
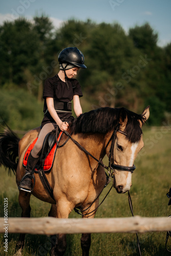
[[[68,218],[71,212],[71,203],[61,200],[57,203],[57,218]],[[62,256],[67,248],[66,234],[57,234],[56,244],[51,250],[52,256]]]

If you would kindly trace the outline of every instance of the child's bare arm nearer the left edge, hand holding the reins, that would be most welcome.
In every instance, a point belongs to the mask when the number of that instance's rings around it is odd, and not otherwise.
[[[53,103],[53,98],[51,97],[46,97],[46,103],[48,106],[48,111],[51,115],[51,117],[55,120],[57,125],[59,126],[59,129],[63,131],[67,131],[68,128],[68,123],[67,122],[62,122],[60,118],[58,117],[58,114],[56,113],[56,110],[54,108],[54,103]]]

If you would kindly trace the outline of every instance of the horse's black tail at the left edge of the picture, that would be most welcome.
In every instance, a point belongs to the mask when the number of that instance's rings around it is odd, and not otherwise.
[[[4,165],[8,168],[9,173],[11,173],[11,170],[14,174],[16,173],[18,164],[18,142],[19,138],[9,127],[4,133],[0,133],[0,166]]]

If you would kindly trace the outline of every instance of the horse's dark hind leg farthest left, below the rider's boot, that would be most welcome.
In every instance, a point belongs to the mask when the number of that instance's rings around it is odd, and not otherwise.
[[[19,191],[18,201],[19,201],[20,207],[22,208],[22,217],[24,218],[30,218],[30,211],[31,211],[30,196],[31,196],[30,193],[26,194],[25,191],[22,191],[22,190]],[[23,249],[25,245],[25,235],[26,235],[25,233],[20,233],[15,250]]]

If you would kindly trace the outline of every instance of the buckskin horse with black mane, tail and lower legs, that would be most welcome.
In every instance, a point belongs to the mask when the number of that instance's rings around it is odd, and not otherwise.
[[[82,212],[82,218],[94,218],[99,204],[98,195],[106,184],[106,166],[102,162],[105,155],[109,158],[108,168],[113,173],[113,186],[117,193],[130,190],[134,160],[144,146],[141,127],[148,117],[149,106],[140,115],[125,108],[106,107],[84,113],[70,124],[68,133],[63,134],[60,140],[59,144],[63,146],[56,151],[52,170],[46,175],[54,199],[42,185],[38,174],[34,174],[32,194],[51,204],[50,217],[68,218],[70,212],[77,208]],[[20,140],[11,130],[1,134],[0,164],[14,173],[16,170],[17,185],[25,174],[25,152],[39,132],[40,127],[29,131]],[[30,217],[30,196],[30,193],[19,190],[22,217]],[[21,250],[24,242],[25,234],[20,234],[17,249]],[[91,234],[82,234],[83,256],[89,255],[90,244]],[[63,255],[66,247],[66,234],[57,234],[51,254]]]

